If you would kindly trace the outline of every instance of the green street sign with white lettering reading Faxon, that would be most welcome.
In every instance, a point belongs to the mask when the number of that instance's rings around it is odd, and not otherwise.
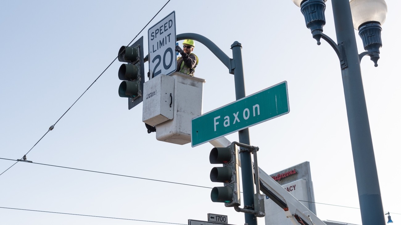
[[[288,112],[290,112],[290,105],[287,81],[283,81],[192,119],[192,147]]]

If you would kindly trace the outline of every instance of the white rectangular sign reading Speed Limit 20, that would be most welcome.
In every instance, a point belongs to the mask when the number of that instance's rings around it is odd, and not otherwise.
[[[177,69],[175,11],[148,30],[150,78]]]

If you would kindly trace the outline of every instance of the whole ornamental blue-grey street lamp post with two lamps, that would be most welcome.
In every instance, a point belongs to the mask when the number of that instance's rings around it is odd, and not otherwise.
[[[350,131],[356,185],[363,225],[384,225],[383,204],[360,71],[360,60],[369,55],[377,66],[381,48],[381,24],[387,5],[384,0],[332,0],[337,44],[323,34],[326,0],[293,0],[301,7],[306,26],[320,44],[326,40],[340,60]],[[352,14],[351,14],[352,11]],[[366,52],[358,54],[354,30],[359,30]]]

